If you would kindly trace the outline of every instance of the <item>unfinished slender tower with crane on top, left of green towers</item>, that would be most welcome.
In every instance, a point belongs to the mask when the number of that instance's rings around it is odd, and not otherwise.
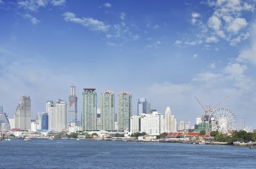
[[[77,97],[76,97],[76,86],[72,84],[70,87],[71,92],[69,96],[69,110],[68,110],[68,123],[77,121]]]

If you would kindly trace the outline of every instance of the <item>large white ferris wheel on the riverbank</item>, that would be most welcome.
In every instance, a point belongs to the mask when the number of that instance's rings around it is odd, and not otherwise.
[[[237,130],[236,116],[227,108],[218,108],[209,115],[209,132],[218,131],[227,134]]]

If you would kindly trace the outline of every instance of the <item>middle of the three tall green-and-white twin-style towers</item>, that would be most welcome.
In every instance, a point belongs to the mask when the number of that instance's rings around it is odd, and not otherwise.
[[[105,90],[100,95],[101,130],[115,130],[115,94]]]

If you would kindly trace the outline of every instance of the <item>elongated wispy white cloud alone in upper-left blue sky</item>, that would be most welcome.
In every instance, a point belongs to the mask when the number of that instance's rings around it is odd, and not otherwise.
[[[79,23],[91,31],[106,32],[110,28],[110,25],[105,25],[105,23],[102,21],[94,20],[93,18],[89,18],[89,17],[77,18],[76,15],[71,12],[65,12],[63,16],[65,21]]]

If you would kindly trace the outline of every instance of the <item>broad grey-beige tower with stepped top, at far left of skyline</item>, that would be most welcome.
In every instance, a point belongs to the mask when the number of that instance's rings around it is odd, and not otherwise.
[[[15,114],[15,128],[20,130],[31,130],[31,100],[23,95],[20,97]]]

